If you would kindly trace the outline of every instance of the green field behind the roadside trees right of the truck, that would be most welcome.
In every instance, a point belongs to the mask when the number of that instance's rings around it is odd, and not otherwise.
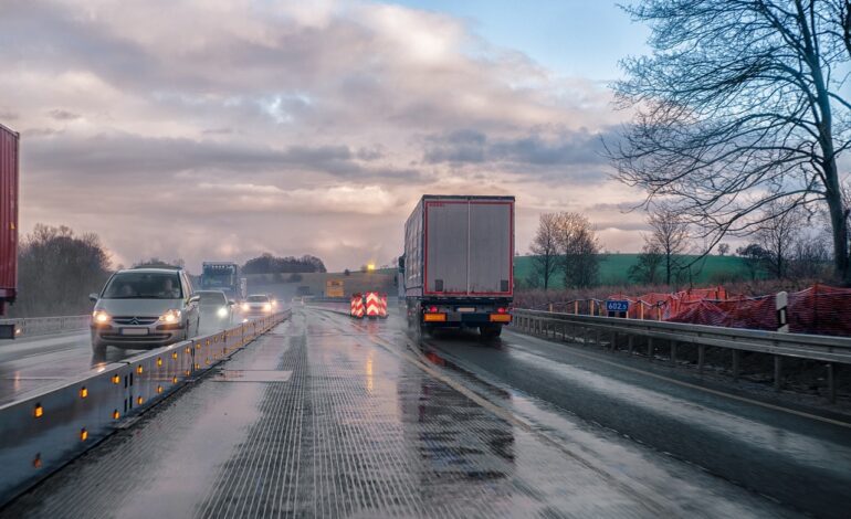
[[[628,277],[629,269],[638,263],[638,254],[607,254],[600,262],[600,285],[632,285]],[[682,263],[689,263],[696,256],[683,256]],[[514,258],[514,277],[525,285],[532,273],[532,256]],[[706,256],[692,267],[692,282],[705,285],[723,282],[723,278],[745,277],[747,269],[743,258],[737,256]],[[663,276],[663,271],[659,269]]]

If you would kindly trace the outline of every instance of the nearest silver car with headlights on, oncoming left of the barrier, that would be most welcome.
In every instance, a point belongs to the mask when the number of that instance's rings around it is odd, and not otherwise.
[[[92,313],[92,351],[148,349],[198,335],[198,301],[181,269],[132,268],[109,277]]]

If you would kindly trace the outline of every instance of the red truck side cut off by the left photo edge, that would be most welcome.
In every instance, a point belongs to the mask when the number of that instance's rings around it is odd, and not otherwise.
[[[0,125],[0,316],[17,295],[19,137]],[[0,328],[0,338],[11,338],[9,332]]]

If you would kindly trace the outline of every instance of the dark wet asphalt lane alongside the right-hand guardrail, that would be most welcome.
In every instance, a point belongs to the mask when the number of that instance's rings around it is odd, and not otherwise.
[[[525,395],[532,401],[527,416],[566,442],[570,434],[542,410],[596,424],[791,509],[849,517],[847,416],[799,406],[778,410],[760,395],[702,383],[645,359],[515,332],[494,345],[471,333],[443,333],[426,339],[423,347],[462,377]]]

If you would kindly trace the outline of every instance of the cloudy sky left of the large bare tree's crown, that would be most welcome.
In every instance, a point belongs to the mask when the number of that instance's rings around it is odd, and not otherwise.
[[[95,232],[114,263],[262,252],[386,263],[423,193],[580,211],[637,251],[641,192],[600,138],[647,31],[605,1],[0,0],[0,123],[21,227]]]

